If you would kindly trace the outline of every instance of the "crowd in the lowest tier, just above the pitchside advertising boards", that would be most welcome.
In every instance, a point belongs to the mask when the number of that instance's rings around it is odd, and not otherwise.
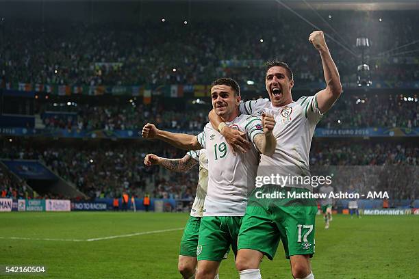
[[[192,199],[196,189],[198,168],[186,173],[169,172],[157,166],[145,167],[148,153],[168,158],[181,158],[182,150],[164,144],[136,147],[66,146],[49,147],[2,142],[0,158],[39,159],[66,181],[90,198],[119,197],[123,190],[141,197],[149,192],[154,198]],[[419,147],[412,143],[372,143],[315,141],[310,164],[331,165],[419,165]],[[348,169],[349,170],[349,169]],[[3,174],[4,175],[4,174]],[[5,179],[1,187],[22,189]],[[23,191],[24,192],[24,191]]]

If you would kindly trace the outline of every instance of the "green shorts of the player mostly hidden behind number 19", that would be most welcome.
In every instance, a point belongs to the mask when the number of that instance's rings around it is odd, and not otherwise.
[[[196,256],[201,219],[202,217],[189,216],[188,222],[183,230],[179,255]]]

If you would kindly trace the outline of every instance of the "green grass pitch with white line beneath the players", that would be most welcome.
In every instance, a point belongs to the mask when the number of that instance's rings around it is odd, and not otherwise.
[[[45,278],[181,278],[179,228],[187,218],[183,213],[0,213],[0,265],[44,265]],[[418,231],[414,215],[361,219],[335,215],[329,230],[318,216],[314,275],[419,278]],[[100,239],[130,234],[134,235]],[[264,279],[292,278],[281,244],[274,261],[264,259],[261,271]],[[0,275],[0,279],[42,277]],[[233,254],[221,264],[220,278],[238,278]]]

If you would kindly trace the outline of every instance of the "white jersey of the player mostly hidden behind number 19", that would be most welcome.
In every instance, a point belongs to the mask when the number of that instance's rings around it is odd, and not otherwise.
[[[190,215],[193,217],[202,217],[205,196],[208,188],[208,159],[207,150],[191,150],[187,153],[192,159],[199,161],[199,180],[196,185],[195,200],[192,204]]]

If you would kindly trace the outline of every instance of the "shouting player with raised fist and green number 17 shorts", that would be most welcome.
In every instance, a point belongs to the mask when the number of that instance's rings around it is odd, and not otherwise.
[[[322,31],[309,36],[320,54],[325,75],[326,88],[314,96],[292,100],[294,78],[290,67],[277,60],[268,62],[266,68],[266,90],[270,101],[258,99],[240,104],[246,114],[270,114],[275,118],[274,135],[277,139],[272,157],[261,155],[259,171],[273,168],[282,176],[307,176],[309,174],[309,150],[316,124],[342,93],[338,69],[331,58]],[[213,127],[221,127],[230,146],[237,146],[237,132],[223,127],[222,120],[210,112]],[[220,126],[222,125],[222,126]],[[238,148],[240,149],[240,148]],[[281,173],[282,172],[282,173]],[[305,193],[312,191],[311,185],[264,185],[253,190],[239,233],[236,268],[241,279],[262,278],[259,264],[266,255],[272,260],[279,240],[283,241],[285,256],[290,259],[294,278],[313,279],[309,258],[314,254],[314,223],[316,201],[310,199],[267,200],[256,198],[256,193],[271,194],[272,191]],[[260,194],[260,193],[258,193]]]

